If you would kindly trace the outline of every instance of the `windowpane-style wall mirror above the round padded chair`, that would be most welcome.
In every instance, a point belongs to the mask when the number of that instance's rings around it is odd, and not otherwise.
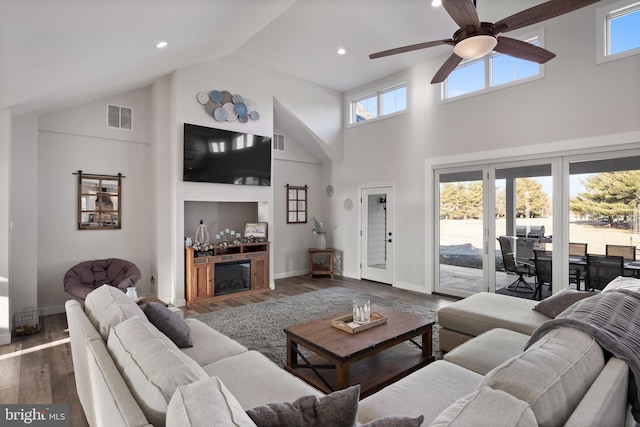
[[[78,173],[78,229],[120,229],[122,175]]]

